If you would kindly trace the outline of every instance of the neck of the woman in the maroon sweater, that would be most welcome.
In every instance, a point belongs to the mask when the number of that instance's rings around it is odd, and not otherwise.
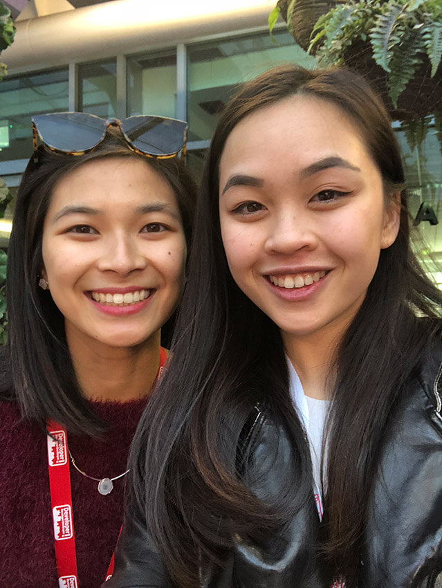
[[[136,347],[109,347],[68,337],[75,374],[85,398],[140,400],[151,392],[160,362],[160,331]]]

